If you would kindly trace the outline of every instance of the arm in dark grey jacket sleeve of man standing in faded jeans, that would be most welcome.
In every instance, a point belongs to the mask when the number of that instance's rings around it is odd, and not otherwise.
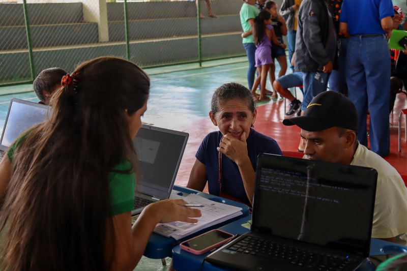
[[[302,38],[305,46],[315,62],[320,66],[325,66],[330,62],[327,51],[321,40],[321,28],[319,27],[319,17],[321,8],[312,2],[303,3],[301,19],[303,22]],[[326,22],[328,23],[328,22]]]

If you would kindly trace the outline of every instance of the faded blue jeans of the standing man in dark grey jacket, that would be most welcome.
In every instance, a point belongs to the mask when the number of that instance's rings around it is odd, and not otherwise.
[[[328,80],[329,73],[304,72],[304,99],[302,100],[301,110],[305,110],[315,96],[327,90]]]

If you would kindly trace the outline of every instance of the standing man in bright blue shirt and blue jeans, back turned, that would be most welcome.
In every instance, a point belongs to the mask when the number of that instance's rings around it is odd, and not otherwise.
[[[391,0],[343,0],[340,32],[350,36],[346,53],[348,97],[359,116],[358,139],[367,146],[370,112],[370,149],[380,156],[390,152],[389,92]]]

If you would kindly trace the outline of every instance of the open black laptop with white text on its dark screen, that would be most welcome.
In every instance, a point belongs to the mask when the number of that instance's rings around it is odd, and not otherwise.
[[[377,172],[261,154],[250,232],[206,260],[239,270],[355,270],[368,257]]]

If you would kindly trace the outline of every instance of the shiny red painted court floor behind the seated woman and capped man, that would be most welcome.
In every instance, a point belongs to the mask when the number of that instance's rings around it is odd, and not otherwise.
[[[401,153],[398,152],[397,145],[397,127],[398,127],[398,113],[402,108],[406,108],[406,97],[403,94],[397,96],[393,116],[390,115],[390,155],[385,159],[393,165],[400,174],[407,175],[407,143],[404,140],[404,125],[405,116],[402,119],[402,145]],[[254,128],[274,138],[280,145],[282,150],[297,151],[300,129],[296,126],[286,127],[282,125],[281,121],[284,118],[284,101],[270,102],[266,105],[257,108],[257,119]],[[182,129],[189,133],[189,140],[185,149],[184,157],[177,175],[176,184],[186,186],[188,183],[189,173],[195,161],[195,153],[199,147],[203,137],[209,132],[216,131],[217,127],[214,126],[209,117],[194,122]]]

